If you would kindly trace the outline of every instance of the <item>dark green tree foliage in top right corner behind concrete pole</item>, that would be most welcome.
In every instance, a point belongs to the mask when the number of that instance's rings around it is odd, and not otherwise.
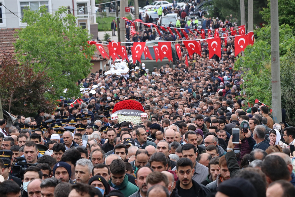
[[[265,22],[271,24],[270,0],[268,0],[267,7],[259,13],[263,15]],[[295,27],[295,0],[278,0],[278,24],[289,24],[292,28]]]

